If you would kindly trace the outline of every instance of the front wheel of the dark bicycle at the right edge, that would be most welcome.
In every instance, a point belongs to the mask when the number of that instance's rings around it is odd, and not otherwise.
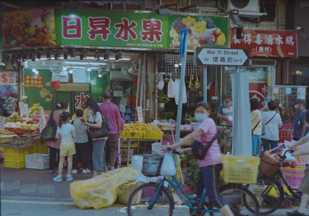
[[[273,213],[283,201],[284,191],[281,184],[273,178],[259,176],[257,177],[257,185],[261,186],[261,189],[258,192],[256,191],[261,203],[259,214]],[[245,202],[245,205],[249,211],[253,211],[247,202]]]

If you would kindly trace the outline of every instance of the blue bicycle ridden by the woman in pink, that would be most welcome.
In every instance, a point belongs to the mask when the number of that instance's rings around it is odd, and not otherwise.
[[[173,151],[178,154],[178,151]],[[143,170],[142,173],[148,177],[159,176],[163,156],[156,152],[145,151],[143,153]],[[155,169],[149,169],[149,167]],[[147,169],[144,169],[147,167]],[[144,170],[148,170],[144,172]],[[149,172],[155,170],[155,172]],[[174,209],[174,199],[171,191],[164,186],[168,182],[171,189],[175,189],[184,205],[189,207],[190,215],[202,216],[210,213],[219,212],[210,202],[205,202],[206,191],[202,193],[202,198],[188,195],[181,187],[180,182],[175,176],[172,181],[167,177],[161,177],[160,183],[150,182],[137,187],[130,195],[128,201],[128,215],[172,215]],[[219,188],[222,197],[229,203],[234,215],[254,215],[259,213],[259,198],[249,188],[249,184],[227,183]],[[182,194],[181,194],[182,193]],[[245,201],[244,201],[245,200]],[[246,206],[250,206],[250,210]]]

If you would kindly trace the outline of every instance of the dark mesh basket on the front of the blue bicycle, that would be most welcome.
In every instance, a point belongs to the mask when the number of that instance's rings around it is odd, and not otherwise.
[[[143,152],[142,173],[146,177],[160,176],[163,156],[154,151]]]

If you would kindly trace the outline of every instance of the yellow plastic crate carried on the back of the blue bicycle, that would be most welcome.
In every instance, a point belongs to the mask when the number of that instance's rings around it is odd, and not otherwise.
[[[255,184],[260,158],[254,156],[222,155],[223,181]]]

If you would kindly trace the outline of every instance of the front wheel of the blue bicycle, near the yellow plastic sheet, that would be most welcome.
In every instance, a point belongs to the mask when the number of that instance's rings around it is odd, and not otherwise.
[[[157,193],[157,183],[146,183],[136,188],[129,197],[128,215],[169,215],[173,214],[174,200],[167,189],[162,186],[153,206],[150,202],[154,200]]]

